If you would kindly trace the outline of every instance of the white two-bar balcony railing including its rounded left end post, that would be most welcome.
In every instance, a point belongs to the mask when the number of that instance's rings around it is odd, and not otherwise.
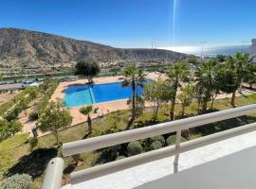
[[[241,135],[253,130],[256,130],[256,123],[248,124],[243,127],[229,129],[226,131],[211,134],[199,139],[188,141],[180,144],[181,130],[191,129],[205,124],[210,124],[217,121],[226,120],[229,118],[246,115],[251,112],[256,112],[256,104],[245,107],[230,109],[221,112],[212,112],[208,114],[198,115],[182,120],[176,120],[163,124],[157,124],[141,129],[131,129],[121,131],[114,134],[103,135],[95,138],[85,139],[81,141],[64,144],[63,155],[71,156],[82,152],[91,151],[107,146],[115,146],[122,143],[128,143],[139,139],[145,139],[156,135],[162,135],[176,131],[175,146],[167,146],[154,151],[139,154],[133,157],[122,159],[112,163],[105,163],[92,168],[83,169],[71,173],[71,184],[79,183],[86,180],[95,179],[107,174],[115,173],[123,169],[137,166],[142,163],[149,163],[155,160],[175,156],[174,172],[177,172],[177,164],[179,154],[192,150],[200,146],[207,146],[221,140],[228,139],[237,135]],[[43,182],[44,189],[60,189],[61,178],[63,174],[64,163],[61,158],[51,160],[46,167],[46,177]]]

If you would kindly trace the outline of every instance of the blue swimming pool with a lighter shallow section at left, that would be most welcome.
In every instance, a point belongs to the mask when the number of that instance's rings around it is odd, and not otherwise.
[[[148,80],[150,81],[150,80]],[[122,87],[121,82],[74,85],[66,89],[64,102],[67,108],[119,100],[132,97],[131,87]],[[137,94],[143,94],[143,89],[137,86]]]

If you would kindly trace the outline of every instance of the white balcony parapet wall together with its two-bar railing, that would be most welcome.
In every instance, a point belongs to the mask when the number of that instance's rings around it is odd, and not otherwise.
[[[176,132],[175,146],[73,172],[62,188],[254,188],[256,123],[180,143],[182,130],[252,112],[255,104],[64,144],[66,157]],[[61,188],[63,168],[61,158],[48,163],[44,189]]]

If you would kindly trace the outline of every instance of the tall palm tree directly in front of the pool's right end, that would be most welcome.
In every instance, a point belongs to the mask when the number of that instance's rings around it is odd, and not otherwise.
[[[131,123],[136,119],[136,106],[137,106],[137,86],[142,87],[146,82],[145,74],[142,70],[137,69],[134,65],[129,65],[124,68],[123,71],[124,80],[122,81],[122,87],[131,87],[133,91],[132,96],[132,118]]]

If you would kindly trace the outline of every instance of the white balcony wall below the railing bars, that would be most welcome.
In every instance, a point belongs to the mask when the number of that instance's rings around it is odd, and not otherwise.
[[[178,174],[174,174],[174,157],[171,157],[72,186],[65,185],[63,189],[250,189],[250,184],[255,183],[255,146],[256,131],[182,153]],[[218,182],[226,185],[214,185]],[[201,185],[204,187],[199,187]]]

